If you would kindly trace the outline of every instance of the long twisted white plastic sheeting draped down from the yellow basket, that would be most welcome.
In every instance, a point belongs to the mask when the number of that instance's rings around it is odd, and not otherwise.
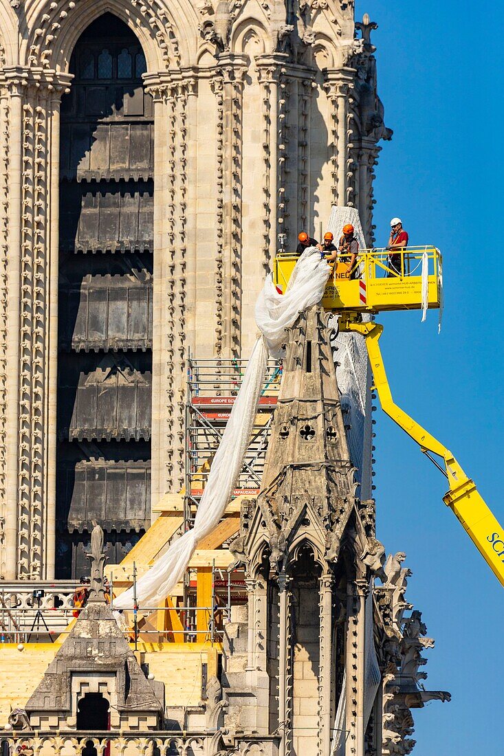
[[[316,247],[309,247],[294,268],[288,290],[278,294],[271,276],[256,303],[256,322],[262,335],[252,349],[240,391],[232,407],[219,448],[213,457],[207,485],[198,506],[194,527],[170,545],[136,584],[138,605],[157,606],[182,579],[198,544],[219,524],[243,465],[263,386],[266,360],[282,357],[285,329],[294,325],[300,311],[322,299],[329,266]],[[115,609],[131,609],[132,587],[114,600]]]

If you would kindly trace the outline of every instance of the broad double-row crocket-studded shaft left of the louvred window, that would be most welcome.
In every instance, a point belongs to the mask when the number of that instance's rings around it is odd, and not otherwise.
[[[43,577],[47,514],[50,268],[48,82],[30,80],[23,102],[23,186],[18,395],[17,577]],[[52,85],[51,85],[52,87]]]

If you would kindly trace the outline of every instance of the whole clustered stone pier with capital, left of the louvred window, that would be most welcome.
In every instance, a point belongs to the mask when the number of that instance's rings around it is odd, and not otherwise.
[[[58,370],[59,128],[54,102],[71,77],[51,70],[36,76],[28,70],[10,73],[14,88],[9,243],[20,255],[11,254],[8,271],[6,576],[50,578]]]

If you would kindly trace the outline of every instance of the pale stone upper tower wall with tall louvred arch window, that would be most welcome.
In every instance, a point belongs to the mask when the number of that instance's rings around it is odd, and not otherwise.
[[[372,242],[373,24],[343,0],[0,0],[0,575],[120,561],[183,485],[185,358],[247,356],[279,246]],[[110,556],[109,551],[109,558]]]

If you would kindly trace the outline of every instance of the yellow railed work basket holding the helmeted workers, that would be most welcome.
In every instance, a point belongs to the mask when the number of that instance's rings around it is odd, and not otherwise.
[[[392,257],[394,256],[394,257]],[[278,253],[273,268],[277,290],[285,293],[297,255]],[[422,269],[427,278],[428,308],[439,308],[442,296],[442,257],[434,246],[361,249],[355,265],[331,264],[322,306],[326,310],[383,312],[422,309]]]

